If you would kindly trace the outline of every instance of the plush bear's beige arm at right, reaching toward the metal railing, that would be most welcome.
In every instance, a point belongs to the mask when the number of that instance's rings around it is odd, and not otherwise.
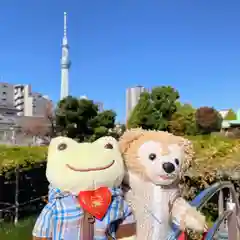
[[[190,228],[198,232],[203,232],[205,229],[205,216],[181,197],[174,201],[171,214],[173,222],[180,225],[181,230]]]

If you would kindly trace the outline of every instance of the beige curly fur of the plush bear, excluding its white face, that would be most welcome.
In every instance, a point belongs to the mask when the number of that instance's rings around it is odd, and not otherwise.
[[[165,159],[170,159],[169,156],[171,156],[169,146],[177,145],[183,149],[179,176],[171,184],[164,186],[155,184],[149,174],[148,165],[143,164],[139,149],[149,141],[159,143],[161,156]],[[166,238],[171,228],[169,223],[172,220],[178,222],[182,228],[189,227],[202,231],[205,224],[204,216],[181,198],[178,187],[180,175],[188,170],[194,157],[192,143],[168,132],[136,128],[123,134],[119,146],[126,166],[124,183],[130,187],[126,198],[134,209],[137,220],[137,239],[162,240]],[[161,224],[156,224],[153,214]],[[155,231],[156,228],[160,230]]]

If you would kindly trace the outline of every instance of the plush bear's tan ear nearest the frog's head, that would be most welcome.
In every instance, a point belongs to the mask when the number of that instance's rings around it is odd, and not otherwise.
[[[143,136],[144,130],[142,128],[133,128],[127,130],[119,140],[119,148],[122,154],[126,153],[131,143],[141,136]]]

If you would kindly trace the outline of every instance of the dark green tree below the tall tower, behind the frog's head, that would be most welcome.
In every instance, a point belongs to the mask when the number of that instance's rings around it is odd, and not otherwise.
[[[116,113],[98,112],[98,106],[88,99],[72,96],[61,100],[56,109],[56,125],[62,135],[82,141],[94,141],[108,135],[115,125]]]

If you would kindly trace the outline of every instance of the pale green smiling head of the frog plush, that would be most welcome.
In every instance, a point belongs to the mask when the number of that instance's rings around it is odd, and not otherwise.
[[[46,175],[54,188],[73,194],[101,186],[118,187],[124,177],[118,142],[112,137],[93,143],[56,137],[48,149]]]

